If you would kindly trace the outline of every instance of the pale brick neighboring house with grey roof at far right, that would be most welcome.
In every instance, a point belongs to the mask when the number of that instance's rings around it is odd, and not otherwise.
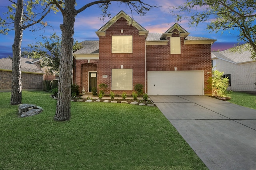
[[[249,50],[212,52],[212,66],[230,79],[228,90],[256,92],[256,61]]]

